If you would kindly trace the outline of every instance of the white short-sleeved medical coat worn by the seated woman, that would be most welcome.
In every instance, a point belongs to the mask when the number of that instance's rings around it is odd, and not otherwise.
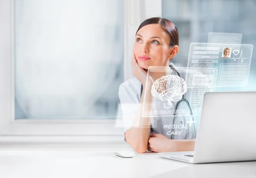
[[[175,74],[175,73],[173,73],[173,74]],[[180,75],[182,76],[183,79],[185,79],[186,76],[184,76],[184,73],[183,73],[183,75],[182,74],[180,74]],[[122,120],[124,123],[124,133],[128,129],[131,128],[131,125],[133,123],[133,120],[135,118],[137,110],[139,108],[140,87],[141,87],[141,83],[139,80],[137,80],[137,78],[132,78],[132,79],[126,80],[119,86],[118,95],[119,95],[121,108],[122,108]],[[187,100],[190,99],[191,90],[192,89],[188,89],[184,95],[184,98],[186,98]],[[166,107],[164,107],[164,105],[166,105],[168,103],[167,101],[162,101],[156,97],[154,97],[153,99],[154,99],[154,101],[153,101],[154,103],[159,104],[159,108],[157,110],[158,112],[160,110],[162,110],[162,111],[166,110]],[[172,102],[171,110],[174,110],[176,103],[177,102]],[[185,109],[186,113],[189,113],[188,106],[186,105],[186,103],[184,101],[179,104],[178,109],[180,109],[180,110]],[[183,111],[185,111],[185,110],[183,110]],[[193,117],[194,117],[194,120],[198,120],[198,118],[195,117],[194,115],[193,115]],[[171,125],[172,125],[172,121],[173,121],[173,115],[168,117],[168,114],[162,116],[158,113],[157,117],[155,117],[156,125],[153,126],[153,131],[154,131],[154,133],[163,134],[168,138],[171,138],[171,136],[173,135],[173,139],[179,139],[179,140],[193,139],[193,138],[195,138],[194,126],[193,126],[193,124],[192,124],[192,126],[189,126],[190,124],[186,123],[186,121],[190,121],[190,120],[191,120],[190,115],[184,116],[184,114],[182,114],[182,113],[176,114],[175,122],[174,122],[174,125],[176,126],[176,128],[174,128],[172,130]],[[197,124],[195,124],[195,125],[197,125]],[[197,129],[195,128],[195,130],[197,130]],[[171,131],[173,131],[173,132],[171,132]],[[125,134],[124,134],[124,137],[125,137]]]

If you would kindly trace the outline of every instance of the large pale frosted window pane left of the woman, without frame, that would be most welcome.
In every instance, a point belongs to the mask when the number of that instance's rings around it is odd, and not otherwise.
[[[15,0],[14,6],[15,119],[114,119],[124,2]]]

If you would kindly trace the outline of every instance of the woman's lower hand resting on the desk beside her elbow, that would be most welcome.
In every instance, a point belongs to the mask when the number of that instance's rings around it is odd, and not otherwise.
[[[176,141],[162,134],[151,134],[148,140],[148,151],[152,152],[176,152]]]

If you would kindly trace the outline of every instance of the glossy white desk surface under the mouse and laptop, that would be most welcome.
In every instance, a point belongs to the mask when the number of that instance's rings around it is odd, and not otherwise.
[[[136,153],[127,145],[0,145],[1,178],[256,178],[256,161],[188,164]]]

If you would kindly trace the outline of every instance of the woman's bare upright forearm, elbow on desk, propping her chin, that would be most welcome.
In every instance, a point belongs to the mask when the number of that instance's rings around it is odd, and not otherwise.
[[[147,91],[147,90],[149,91]],[[148,83],[148,87],[143,86],[143,92],[140,99],[140,104],[143,104],[143,102],[151,103],[152,101],[152,95],[151,95],[151,83]],[[145,95],[146,94],[146,95]],[[148,107],[147,109],[151,109]],[[140,123],[140,121],[143,120],[143,126],[135,127],[134,125],[137,125],[136,123]],[[148,138],[150,134],[150,123],[151,118],[141,118],[141,110],[138,109],[136,116],[134,118],[133,124],[131,126],[131,129],[127,130],[125,132],[125,139],[128,144],[131,145],[131,147],[139,153],[144,153],[147,150],[148,146]]]

